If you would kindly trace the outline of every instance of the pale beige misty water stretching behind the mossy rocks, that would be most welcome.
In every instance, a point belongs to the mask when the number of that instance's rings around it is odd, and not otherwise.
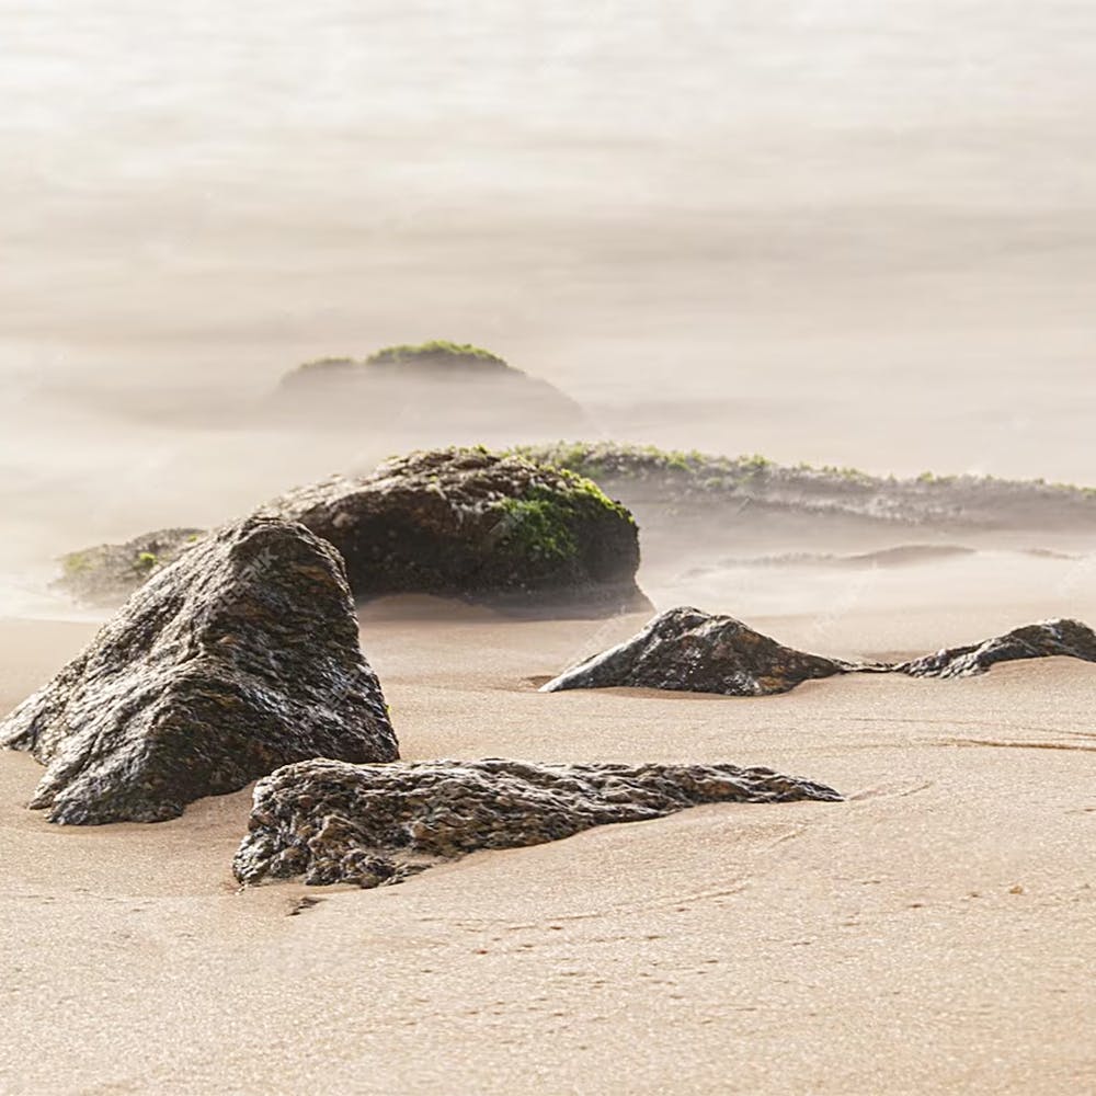
[[[603,437],[1096,483],[1091,4],[0,0],[0,42],[15,585],[418,444],[254,409],[435,338]]]

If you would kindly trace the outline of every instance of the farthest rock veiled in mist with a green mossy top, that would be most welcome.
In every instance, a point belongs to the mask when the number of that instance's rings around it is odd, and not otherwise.
[[[593,424],[569,396],[477,346],[435,340],[367,358],[321,358],[283,377],[274,409],[293,421],[438,445],[558,437]]]

